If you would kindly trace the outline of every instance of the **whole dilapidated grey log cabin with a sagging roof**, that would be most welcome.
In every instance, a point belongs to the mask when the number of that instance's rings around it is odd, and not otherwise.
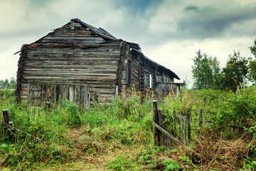
[[[163,84],[179,80],[173,71],[146,58],[137,43],[115,38],[80,19],[24,44],[19,52],[18,101],[68,99],[87,108],[92,99],[110,103],[124,88],[161,93]]]

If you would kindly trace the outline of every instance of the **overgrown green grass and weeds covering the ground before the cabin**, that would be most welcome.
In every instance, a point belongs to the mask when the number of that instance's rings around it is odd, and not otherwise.
[[[1,128],[1,169],[43,170],[44,167],[111,154],[116,156],[104,162],[108,170],[181,170],[184,167],[177,161],[161,159],[161,153],[169,151],[154,146],[151,113],[154,98],[151,95],[143,103],[133,94],[129,98],[115,98],[110,105],[95,103],[93,108],[85,111],[78,111],[77,106],[68,101],[52,108],[16,104],[11,90],[0,89],[0,95],[0,109],[9,109],[14,126],[46,142],[38,143],[21,134],[7,135]],[[222,133],[227,140],[239,138],[247,130],[255,133],[255,88],[241,90],[240,94],[220,90],[183,90],[182,96],[169,95],[158,103],[165,115],[172,115],[174,110],[176,113],[191,113],[192,138],[197,136],[199,109],[205,111],[204,126]],[[174,127],[169,129],[178,131]],[[127,152],[121,154],[124,150]],[[247,159],[246,166],[254,160],[255,157]]]

